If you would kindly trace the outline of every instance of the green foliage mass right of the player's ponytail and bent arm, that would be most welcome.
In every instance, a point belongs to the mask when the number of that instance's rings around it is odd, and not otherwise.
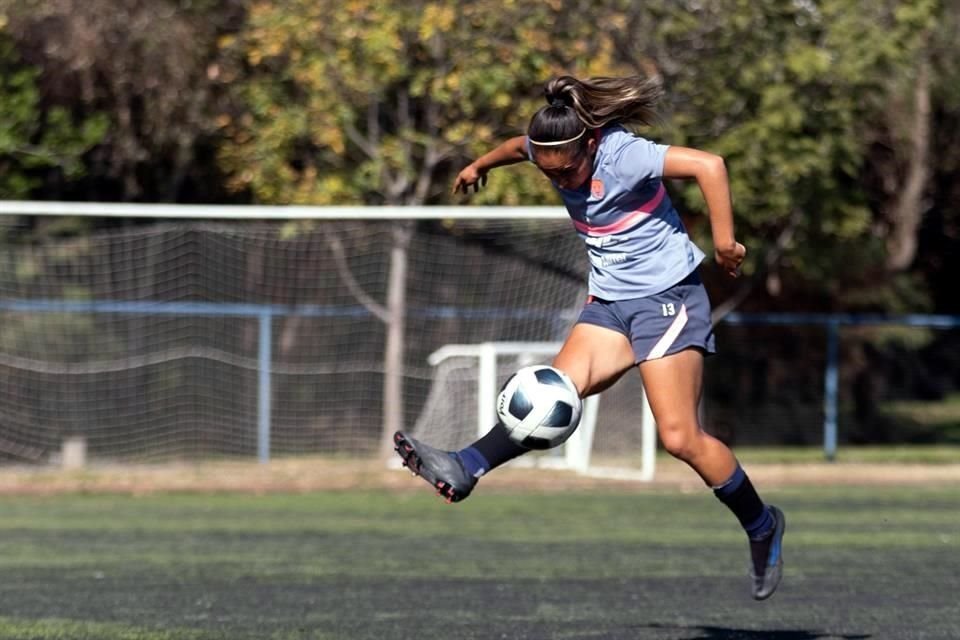
[[[883,260],[860,177],[871,132],[909,76],[936,3],[729,0],[667,20],[670,134],[723,155],[754,260],[788,227],[777,267],[814,288],[857,281]],[[684,206],[699,210],[694,185]],[[756,269],[756,263],[747,271]]]

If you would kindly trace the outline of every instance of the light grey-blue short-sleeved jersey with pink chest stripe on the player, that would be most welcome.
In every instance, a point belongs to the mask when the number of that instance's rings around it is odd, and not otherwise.
[[[690,240],[661,180],[667,146],[616,125],[597,132],[593,175],[580,189],[554,184],[590,257],[590,295],[642,298],[693,272]],[[527,143],[529,154],[529,140]]]

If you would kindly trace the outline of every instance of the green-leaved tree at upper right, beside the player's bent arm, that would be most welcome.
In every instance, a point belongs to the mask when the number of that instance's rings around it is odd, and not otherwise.
[[[759,279],[776,295],[787,282],[828,306],[909,296],[891,291],[886,274],[912,256],[929,114],[919,97],[897,112],[912,118],[890,113],[905,85],[913,83],[911,96],[925,91],[928,76],[915,71],[936,3],[725,0],[647,10],[657,28],[644,55],[668,86],[669,137],[727,159],[738,229],[760,249],[747,285]],[[902,141],[892,163],[873,153],[878,138]],[[865,180],[878,166],[894,176],[887,190]],[[693,185],[680,200],[702,209]]]

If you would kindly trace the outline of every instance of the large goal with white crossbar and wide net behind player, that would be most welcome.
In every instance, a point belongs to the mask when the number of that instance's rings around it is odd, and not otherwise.
[[[0,232],[6,463],[76,438],[98,460],[375,455],[390,424],[462,446],[478,362],[430,355],[559,343],[586,294],[555,209],[7,202]],[[641,410],[639,376],[604,394],[595,461],[639,464]]]

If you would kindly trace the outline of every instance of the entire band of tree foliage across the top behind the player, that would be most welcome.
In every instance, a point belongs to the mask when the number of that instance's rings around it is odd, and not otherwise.
[[[54,173],[78,182],[84,154],[106,140],[95,184],[122,197],[224,180],[231,197],[265,203],[459,202],[456,172],[524,130],[549,77],[659,74],[663,122],[644,133],[726,158],[746,273],[772,268],[823,305],[928,297],[916,273],[884,272],[884,212],[921,63],[933,74],[928,200],[956,201],[956,0],[110,6],[0,0],[0,197],[26,197]],[[170,45],[183,41],[192,46]],[[109,132],[103,116],[80,117],[101,110]],[[670,188],[686,213],[703,213],[696,185]],[[518,166],[469,202],[558,200]],[[940,252],[955,246],[957,211],[943,206],[943,231],[927,231]],[[707,248],[706,225],[692,229]]]

